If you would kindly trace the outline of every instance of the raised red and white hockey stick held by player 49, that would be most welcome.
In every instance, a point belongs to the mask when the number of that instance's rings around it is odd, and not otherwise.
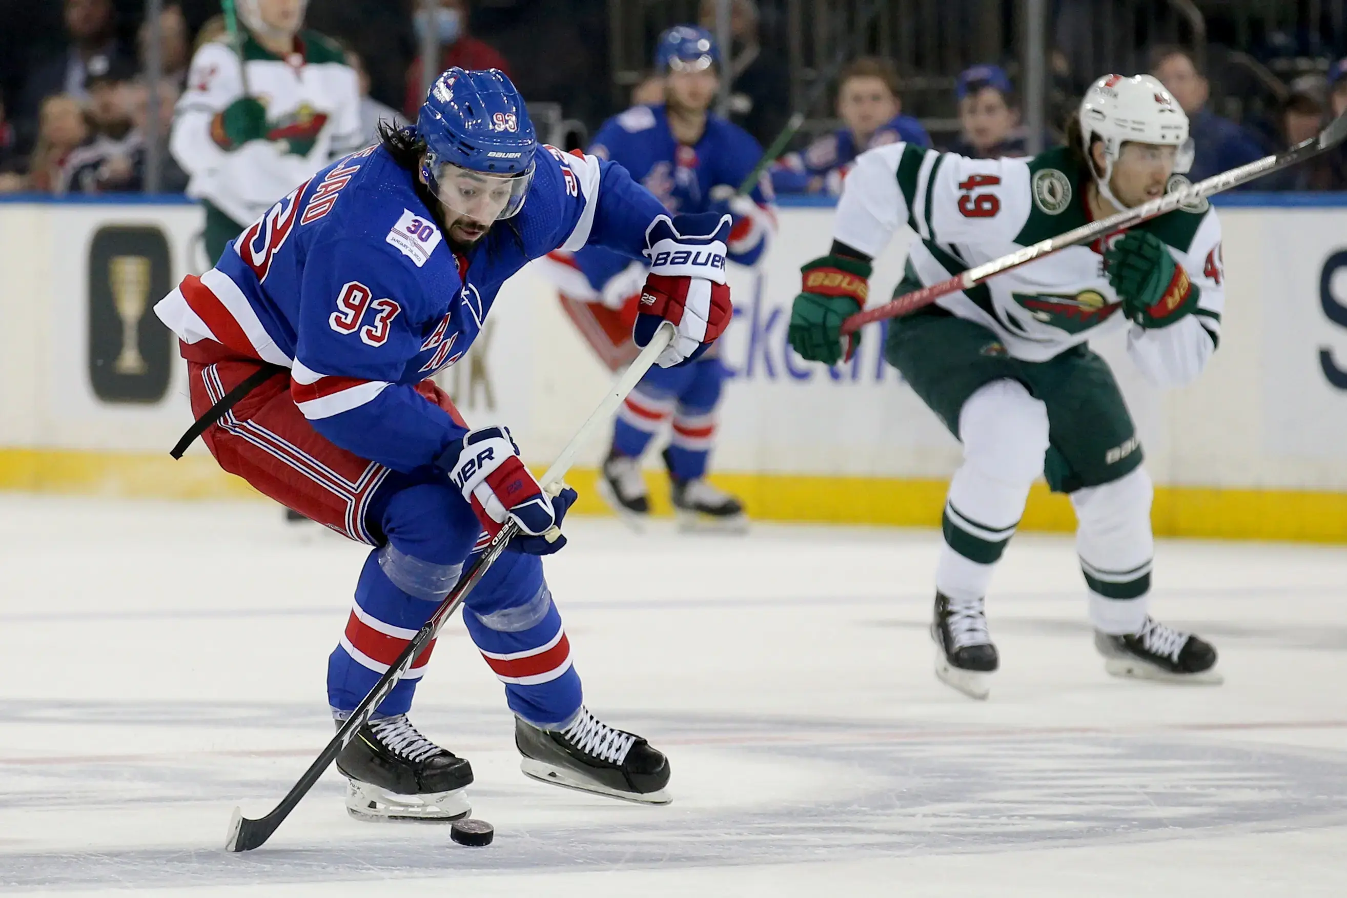
[[[1048,240],[1033,244],[1032,246],[1018,249],[1009,256],[993,258],[989,263],[970,268],[962,275],[955,275],[948,280],[931,284],[929,287],[923,287],[921,289],[915,289],[911,293],[904,293],[902,296],[884,303],[882,306],[859,311],[842,322],[842,334],[853,334],[861,327],[874,322],[881,322],[889,318],[901,318],[902,315],[913,312],[923,306],[929,306],[942,296],[968,289],[970,287],[975,287],[986,281],[989,277],[994,277],[995,275],[1001,275],[1013,268],[1020,268],[1021,265],[1028,265],[1034,260],[1051,256],[1052,253],[1065,249],[1067,246],[1092,242],[1100,237],[1106,237],[1107,234],[1134,228],[1144,221],[1156,218],[1157,215],[1164,215],[1184,203],[1204,199],[1206,197],[1219,194],[1223,190],[1230,190],[1231,187],[1249,183],[1255,178],[1262,178],[1263,175],[1274,171],[1281,171],[1282,168],[1300,164],[1319,156],[1320,153],[1328,152],[1334,147],[1342,144],[1343,140],[1347,140],[1347,113],[1343,113],[1334,121],[1328,123],[1328,127],[1319,132],[1319,136],[1304,140],[1289,149],[1273,153],[1272,156],[1263,156],[1262,159],[1251,162],[1247,166],[1239,166],[1238,168],[1231,168],[1230,171],[1224,171],[1219,175],[1212,175],[1207,180],[1200,180],[1196,184],[1188,184],[1183,190],[1176,190],[1171,194],[1165,194],[1164,197],[1157,197],[1148,203],[1142,203],[1141,206],[1125,209],[1117,215],[1110,215],[1109,218],[1082,225],[1080,228],[1068,230],[1064,234],[1057,234],[1056,237],[1049,237]]]

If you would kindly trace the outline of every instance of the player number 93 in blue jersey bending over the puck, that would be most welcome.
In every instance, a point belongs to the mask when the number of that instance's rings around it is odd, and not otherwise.
[[[179,337],[197,424],[226,471],[373,545],[327,669],[343,719],[508,520],[523,533],[465,602],[505,684],[524,773],[663,802],[669,766],[585,704],[543,579],[575,491],[546,494],[505,427],[469,427],[428,378],[459,359],[501,284],[531,258],[599,245],[652,263],[637,342],[664,320],[660,365],[695,359],[730,315],[729,218],[669,217],[622,170],[537,147],[496,70],[440,75],[415,128],[338,160],[277,202],[216,268],[155,311]],[[407,719],[431,649],[337,766],[361,819],[469,812],[467,761]]]

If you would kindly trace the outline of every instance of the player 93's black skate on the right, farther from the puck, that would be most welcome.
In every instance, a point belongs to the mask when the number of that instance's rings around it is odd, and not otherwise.
[[[601,796],[667,805],[669,762],[641,736],[614,730],[582,707],[564,730],[515,718],[520,770],[533,780]]]

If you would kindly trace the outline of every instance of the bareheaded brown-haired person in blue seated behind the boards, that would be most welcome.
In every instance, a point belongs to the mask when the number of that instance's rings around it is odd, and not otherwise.
[[[931,137],[912,116],[902,114],[898,75],[888,59],[862,57],[842,70],[838,117],[846,125],[784,155],[772,167],[772,186],[781,194],[842,193],[851,162],[872,147],[900,140],[929,147]]]

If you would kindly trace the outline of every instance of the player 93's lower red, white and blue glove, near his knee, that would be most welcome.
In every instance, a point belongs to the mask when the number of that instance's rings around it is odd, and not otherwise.
[[[570,487],[555,497],[544,493],[520,460],[519,446],[508,427],[467,431],[449,444],[435,464],[462,490],[488,536],[494,539],[513,518],[523,533],[511,548],[528,555],[551,555],[566,545],[564,536],[554,534],[555,539],[548,540],[544,533],[560,525],[577,493]]]

